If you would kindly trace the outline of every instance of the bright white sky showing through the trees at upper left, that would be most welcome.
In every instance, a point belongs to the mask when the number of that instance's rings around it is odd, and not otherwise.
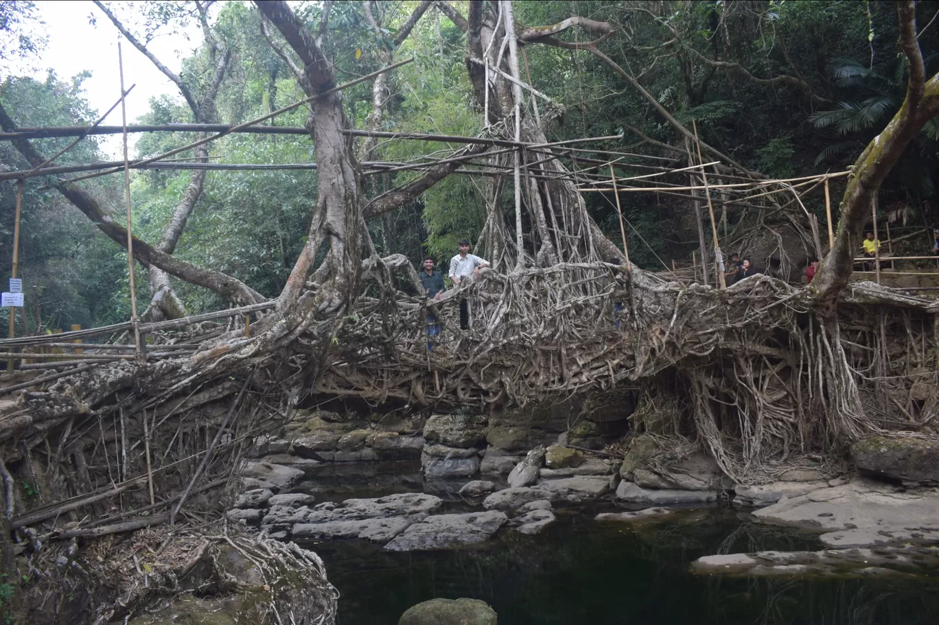
[[[124,57],[124,84],[127,87],[136,85],[127,97],[129,124],[149,111],[150,98],[168,94],[181,99],[177,86],[156,69],[143,53],[134,48],[130,41],[124,40],[114,23],[92,2],[39,0],[36,5],[39,18],[44,22],[41,31],[48,38],[48,43],[39,54],[38,60],[30,61],[32,68],[23,64],[8,68],[9,73],[44,79],[48,69],[54,69],[60,79],[68,80],[87,69],[91,72],[91,77],[84,83],[85,96],[92,108],[102,114],[120,98],[120,73],[117,63],[117,41],[120,39]],[[89,23],[90,15],[95,16],[97,25]],[[117,15],[121,17],[121,13]],[[198,27],[193,25],[184,34],[166,34],[153,38],[147,44],[147,49],[167,68],[178,73],[182,59],[198,47],[200,38]],[[119,126],[120,107],[115,108],[102,123]],[[134,135],[129,135],[129,139],[132,158]],[[109,137],[102,143],[102,148],[115,158],[118,155],[123,158],[120,135]]]

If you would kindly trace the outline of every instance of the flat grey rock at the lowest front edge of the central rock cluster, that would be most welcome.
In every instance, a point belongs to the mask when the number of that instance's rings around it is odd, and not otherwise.
[[[421,523],[409,526],[403,534],[386,544],[385,549],[423,551],[482,542],[506,521],[508,518],[500,511],[428,516]]]

